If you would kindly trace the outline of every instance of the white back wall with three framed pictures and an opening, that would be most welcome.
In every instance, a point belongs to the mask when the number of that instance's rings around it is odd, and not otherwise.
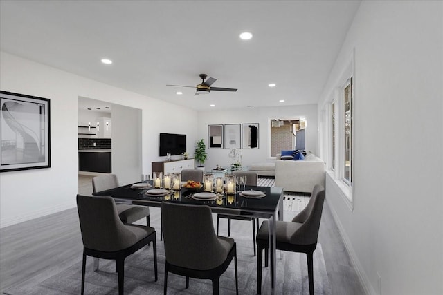
[[[259,124],[259,149],[243,149],[242,164],[248,166],[256,162],[271,162],[269,158],[270,123],[269,119],[305,117],[306,150],[318,154],[317,105],[279,106],[268,108],[240,108],[223,111],[199,111],[198,134],[203,138],[208,152],[204,166],[213,169],[217,164],[228,166],[232,160],[228,157],[229,149],[208,149],[208,125],[213,124]],[[274,155],[275,157],[275,155]]]

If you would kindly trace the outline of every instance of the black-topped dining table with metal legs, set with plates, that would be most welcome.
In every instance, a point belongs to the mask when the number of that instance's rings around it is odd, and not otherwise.
[[[197,204],[210,207],[213,213],[223,213],[232,216],[248,216],[266,218],[269,220],[269,258],[271,267],[271,294],[275,291],[275,257],[276,257],[276,220],[283,220],[283,188],[257,187],[246,185],[242,191],[235,193],[202,193],[201,188],[185,188],[176,190],[153,189],[152,182],[143,187],[137,184],[127,184],[122,187],[98,191],[93,196],[110,196],[116,202],[137,204],[150,207],[161,207],[162,202],[181,204]],[[154,193],[155,191],[155,193]],[[159,193],[162,192],[162,193]],[[254,196],[260,193],[260,196]],[[213,196],[213,198],[197,198],[197,196]],[[258,267],[258,266],[257,266]]]

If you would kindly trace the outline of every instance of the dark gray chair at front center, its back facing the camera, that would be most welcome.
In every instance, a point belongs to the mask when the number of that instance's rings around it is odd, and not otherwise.
[[[234,258],[237,281],[237,247],[232,238],[217,237],[208,206],[161,203],[161,220],[165,243],[165,284],[168,272],[189,278],[210,279],[213,294],[219,294],[219,278]]]

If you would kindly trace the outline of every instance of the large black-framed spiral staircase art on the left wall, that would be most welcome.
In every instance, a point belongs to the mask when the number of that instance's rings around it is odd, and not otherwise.
[[[0,172],[51,167],[50,100],[0,91]]]

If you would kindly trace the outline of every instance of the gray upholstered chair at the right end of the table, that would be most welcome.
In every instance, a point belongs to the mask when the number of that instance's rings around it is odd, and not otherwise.
[[[305,209],[291,222],[277,221],[276,239],[278,250],[305,253],[309,278],[309,294],[314,294],[313,255],[317,247],[318,229],[325,202],[325,189],[316,184]],[[257,234],[257,294],[262,292],[262,251],[266,249],[265,265],[268,265],[268,222],[264,221]]]

